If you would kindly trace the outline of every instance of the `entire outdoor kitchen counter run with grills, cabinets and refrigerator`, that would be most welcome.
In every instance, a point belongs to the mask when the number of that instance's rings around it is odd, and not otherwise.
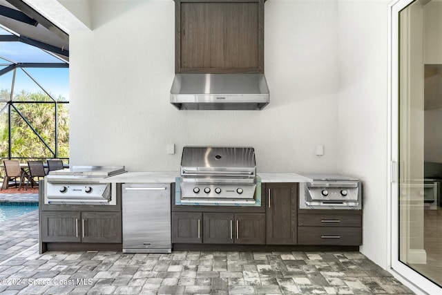
[[[261,178],[254,149],[236,146],[184,146],[180,171],[166,178],[124,166],[51,171],[40,193],[40,253],[357,251],[362,245],[356,179],[296,173]]]

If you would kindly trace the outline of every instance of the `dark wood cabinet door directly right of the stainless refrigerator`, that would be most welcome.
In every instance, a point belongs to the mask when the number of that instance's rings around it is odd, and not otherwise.
[[[172,242],[202,243],[202,213],[172,213]]]

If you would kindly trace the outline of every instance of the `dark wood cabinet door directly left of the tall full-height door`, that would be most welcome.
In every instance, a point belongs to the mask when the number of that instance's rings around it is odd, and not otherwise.
[[[265,214],[235,214],[236,244],[265,244]]]

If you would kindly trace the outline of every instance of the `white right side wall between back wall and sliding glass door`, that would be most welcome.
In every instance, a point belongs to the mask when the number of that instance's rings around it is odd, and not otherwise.
[[[363,180],[361,252],[387,267],[387,6],[338,5],[338,169]]]

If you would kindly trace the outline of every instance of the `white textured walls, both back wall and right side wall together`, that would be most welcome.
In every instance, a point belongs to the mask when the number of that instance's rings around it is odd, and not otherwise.
[[[258,171],[355,175],[361,251],[387,267],[388,1],[267,1],[264,111],[177,111],[173,1],[92,1],[70,32],[71,164],[176,171],[186,144],[250,145]]]

